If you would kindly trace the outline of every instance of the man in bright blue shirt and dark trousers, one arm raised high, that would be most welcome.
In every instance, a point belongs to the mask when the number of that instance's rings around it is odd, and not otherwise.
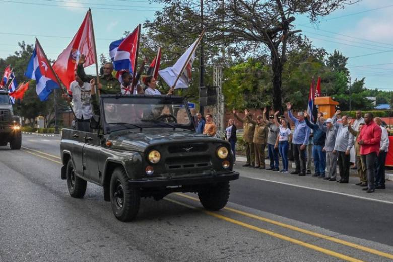
[[[291,174],[298,174],[299,176],[306,175],[306,145],[310,136],[310,128],[304,120],[304,113],[298,112],[297,118],[292,115],[292,105],[287,102],[288,116],[295,123],[295,130],[293,132],[293,158],[295,159],[296,170]]]

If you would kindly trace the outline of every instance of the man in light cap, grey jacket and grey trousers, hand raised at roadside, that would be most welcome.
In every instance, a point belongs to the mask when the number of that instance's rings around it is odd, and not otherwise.
[[[337,155],[333,153],[336,143],[337,128],[333,125],[332,118],[326,120],[325,125],[319,125],[319,128],[326,132],[325,146],[322,151],[326,152],[326,166],[329,169],[329,174],[324,178],[329,181],[336,181],[336,170],[337,170]]]

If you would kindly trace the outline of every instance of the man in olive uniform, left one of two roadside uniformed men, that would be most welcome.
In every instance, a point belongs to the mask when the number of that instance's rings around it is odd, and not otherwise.
[[[249,166],[249,167],[254,167],[255,166],[255,150],[254,150],[254,144],[253,144],[253,139],[254,139],[254,131],[255,131],[255,125],[251,123],[247,116],[249,116],[252,119],[252,113],[250,113],[247,109],[244,109],[245,117],[240,118],[236,114],[236,110],[233,110],[233,115],[236,117],[237,120],[243,123],[243,139],[244,139],[244,145],[246,148],[246,157],[247,157],[247,162],[243,166]]]

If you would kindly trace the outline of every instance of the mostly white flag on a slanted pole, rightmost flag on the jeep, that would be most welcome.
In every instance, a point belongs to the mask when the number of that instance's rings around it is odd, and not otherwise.
[[[169,85],[171,88],[188,88],[191,80],[191,68],[195,60],[195,51],[204,32],[199,36],[199,38],[188,47],[187,51],[177,60],[177,62],[172,67],[167,67],[164,70],[158,71],[161,78]]]

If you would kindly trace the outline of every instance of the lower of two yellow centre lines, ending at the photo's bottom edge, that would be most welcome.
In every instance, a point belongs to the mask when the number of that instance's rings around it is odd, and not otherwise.
[[[337,253],[337,252],[331,251],[329,249],[325,249],[325,248],[322,248],[322,247],[319,247],[319,246],[316,246],[316,245],[312,245],[312,244],[306,243],[304,241],[301,241],[301,240],[298,240],[298,239],[295,239],[295,238],[292,238],[292,237],[281,235],[281,234],[275,233],[275,232],[270,231],[270,230],[266,230],[266,229],[263,229],[263,228],[260,228],[260,227],[257,227],[257,226],[246,224],[246,223],[241,222],[239,220],[235,220],[235,219],[232,219],[232,218],[229,218],[229,217],[226,217],[226,216],[219,215],[219,214],[217,214],[215,212],[202,210],[202,209],[196,208],[194,206],[190,206],[190,205],[184,204],[182,202],[178,202],[178,201],[173,200],[173,199],[165,198],[165,200],[170,201],[170,202],[175,203],[175,204],[178,204],[178,205],[181,205],[181,206],[184,206],[184,207],[188,207],[188,208],[191,208],[191,209],[199,210],[199,211],[201,211],[201,212],[203,212],[203,213],[205,213],[207,215],[210,215],[210,216],[213,216],[213,217],[225,220],[227,222],[230,222],[230,223],[233,223],[233,224],[236,224],[236,225],[239,225],[239,226],[242,226],[242,227],[245,227],[245,228],[248,228],[248,229],[260,232],[260,233],[263,233],[263,234],[267,234],[267,235],[270,235],[270,236],[273,236],[273,237],[276,237],[276,238],[279,238],[281,240],[285,240],[285,241],[288,241],[288,242],[291,242],[291,243],[294,243],[294,244],[297,244],[297,245],[301,245],[301,246],[304,246],[306,248],[309,248],[309,249],[312,249],[312,250],[315,250],[315,251],[318,251],[318,252],[321,252],[321,253],[324,253],[324,254],[327,254],[327,255],[330,255],[330,256],[334,256],[334,257],[337,257],[337,258],[345,260],[345,261],[350,261],[350,262],[362,262],[363,261],[363,260],[359,260],[359,259],[347,256],[347,255],[344,255],[344,254],[341,254],[341,253]]]

